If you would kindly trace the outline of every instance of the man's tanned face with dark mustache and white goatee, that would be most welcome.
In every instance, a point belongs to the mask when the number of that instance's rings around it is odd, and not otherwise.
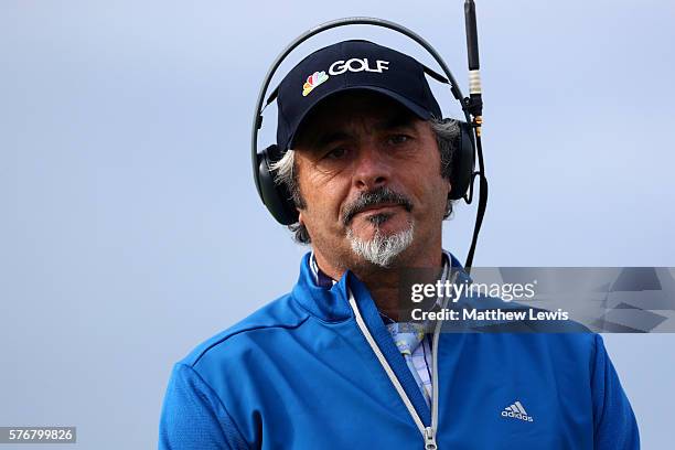
[[[317,254],[354,268],[440,248],[450,183],[433,131],[407,108],[379,94],[336,95],[306,119],[294,150],[300,221]]]

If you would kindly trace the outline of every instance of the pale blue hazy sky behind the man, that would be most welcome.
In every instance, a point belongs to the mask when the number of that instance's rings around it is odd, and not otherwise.
[[[490,201],[474,265],[675,266],[675,6],[476,10]],[[416,31],[468,92],[462,1],[0,2],[0,426],[154,447],[172,364],[291,288],[307,248],[257,197],[254,106],[288,42],[347,15]],[[353,26],[303,44],[272,85],[349,38],[432,66]],[[272,105],[261,147],[275,124]],[[460,204],[443,225],[460,260],[474,213]],[[643,447],[664,448],[675,336],[604,339]]]

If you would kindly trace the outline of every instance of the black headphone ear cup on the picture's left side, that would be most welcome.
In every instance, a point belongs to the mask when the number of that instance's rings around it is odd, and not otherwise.
[[[271,144],[258,152],[258,182],[260,196],[267,210],[281,225],[291,225],[298,222],[298,211],[291,200],[290,192],[286,185],[275,182],[271,164],[281,159],[282,154],[277,144]]]

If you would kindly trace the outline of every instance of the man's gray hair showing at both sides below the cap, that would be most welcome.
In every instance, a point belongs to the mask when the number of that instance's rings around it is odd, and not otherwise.
[[[438,150],[441,157],[441,175],[450,180],[452,157],[460,136],[459,124],[453,119],[438,120],[435,118],[429,119],[428,122],[436,135],[436,142],[438,143]],[[296,170],[296,152],[289,149],[279,161],[271,164],[271,170],[276,172],[275,182],[286,185],[296,207],[298,210],[304,208],[306,203],[302,195],[300,195],[300,185],[298,183],[298,173]],[[443,218],[448,218],[452,214],[452,203],[453,201],[448,199]],[[294,234],[293,238],[296,242],[300,244],[311,243],[311,238],[304,225],[296,222],[289,225],[288,228]]]

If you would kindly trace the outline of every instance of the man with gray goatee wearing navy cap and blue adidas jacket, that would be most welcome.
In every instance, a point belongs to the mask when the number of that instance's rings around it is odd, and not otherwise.
[[[441,247],[458,130],[419,63],[341,42],[278,107],[275,171],[312,251],[290,293],[175,365],[161,449],[639,448],[600,336],[398,322],[400,268],[460,269]]]

